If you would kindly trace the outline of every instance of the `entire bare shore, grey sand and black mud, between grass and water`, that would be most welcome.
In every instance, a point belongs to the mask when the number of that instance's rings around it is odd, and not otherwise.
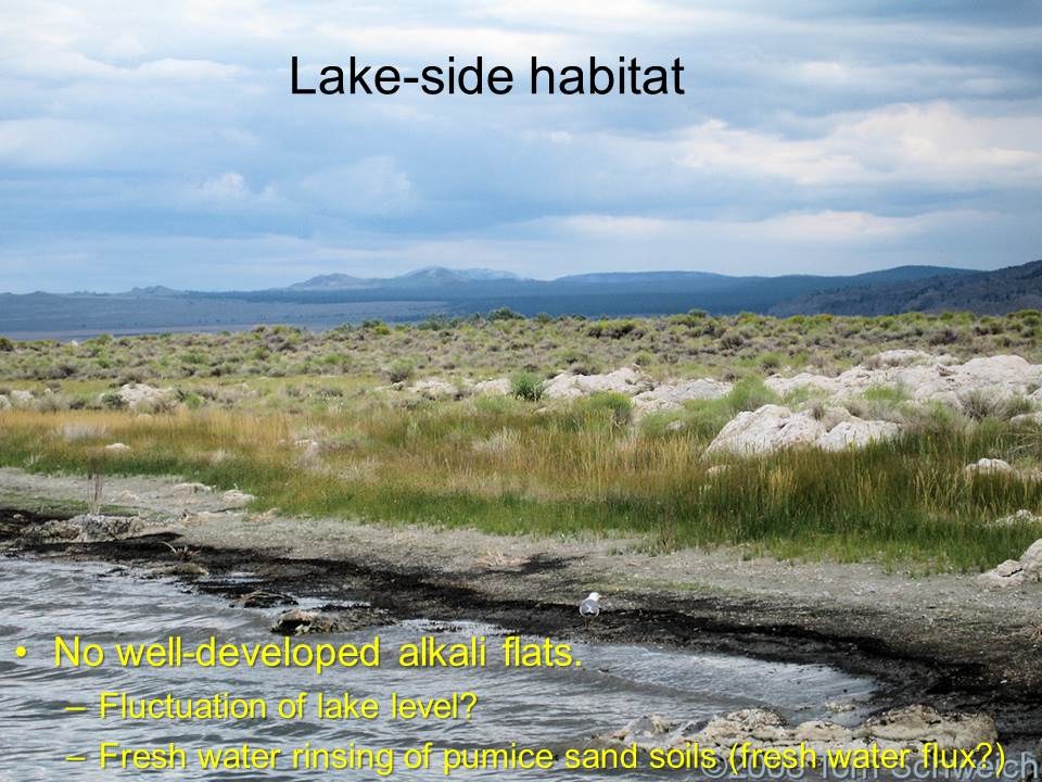
[[[85,482],[0,469],[0,508],[27,516],[12,522],[12,513],[0,514],[0,543],[9,556],[165,568],[233,601],[257,590],[361,597],[396,620],[466,619],[566,640],[829,665],[879,681],[873,710],[984,711],[1005,741],[1033,745],[1042,734],[1038,584],[986,591],[973,576],[914,578],[866,564],[750,560],[729,550],[653,555],[632,538],[500,538],[285,518],[225,507],[219,493],[186,494],[174,478],[112,477],[106,489],[140,514],[140,537],[12,550],[34,510],[81,500]],[[48,508],[36,519],[61,515]],[[194,568],[178,568],[171,545],[188,546]],[[606,596],[605,610],[584,629],[575,605],[593,589]]]

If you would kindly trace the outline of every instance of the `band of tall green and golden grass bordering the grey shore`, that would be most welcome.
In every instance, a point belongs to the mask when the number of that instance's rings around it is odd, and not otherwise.
[[[744,392],[702,409],[729,413],[746,399]],[[658,550],[739,545],[919,570],[992,567],[1019,556],[1040,533],[986,522],[1042,508],[1042,482],[971,480],[963,471],[982,456],[1040,461],[1038,432],[997,420],[940,422],[859,452],[730,459],[710,476],[697,456],[711,437],[708,425],[635,433],[619,425],[622,405],[607,395],[534,408],[511,399],[336,417],[7,412],[0,464],[85,476],[179,475],[236,485],[257,495],[257,508],[300,516],[497,533],[628,533]],[[74,422],[103,433],[68,441],[62,427]],[[329,443],[317,465],[303,464],[293,449],[302,430]],[[101,446],[115,440],[134,450],[104,454]]]

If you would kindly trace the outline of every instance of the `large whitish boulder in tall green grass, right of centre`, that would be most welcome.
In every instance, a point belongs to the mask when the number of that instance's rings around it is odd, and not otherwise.
[[[901,428],[897,424],[863,420],[842,408],[826,408],[821,416],[814,416],[782,405],[764,405],[752,412],[739,413],[728,421],[706,453],[754,456],[790,447],[843,451],[865,447],[900,433]]]

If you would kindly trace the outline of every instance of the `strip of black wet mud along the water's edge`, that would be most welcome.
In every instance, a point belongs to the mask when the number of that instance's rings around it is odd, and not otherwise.
[[[100,543],[26,544],[21,539],[26,529],[59,515],[0,509],[0,545],[8,556],[103,560],[136,575],[181,567],[195,571],[178,576],[187,589],[230,603],[256,593],[287,606],[295,598],[331,605],[366,601],[393,619],[478,620],[560,639],[826,664],[881,682],[872,704],[879,710],[918,703],[940,710],[984,711],[995,719],[1005,742],[1033,746],[1042,735],[1039,641],[1008,628],[1003,633],[988,617],[973,621],[967,616],[938,626],[930,617],[902,613],[900,606],[851,610],[812,605],[783,590],[752,596],[639,589],[612,592],[611,607],[587,629],[574,603],[559,598],[583,593],[588,584],[582,563],[567,550],[499,570],[486,566],[446,573],[419,555],[408,566],[390,565],[365,550],[335,557],[285,556],[263,548],[200,545],[191,534],[174,531]],[[406,552],[403,562],[409,559]]]

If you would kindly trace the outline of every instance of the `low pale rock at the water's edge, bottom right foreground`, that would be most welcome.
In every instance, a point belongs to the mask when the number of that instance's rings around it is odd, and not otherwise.
[[[665,719],[649,715],[633,720],[622,730],[595,736],[601,744],[636,744],[648,752],[685,746],[687,742],[702,746],[728,748],[750,742],[759,747],[799,746],[824,751],[829,748],[867,747],[915,749],[926,742],[942,748],[967,748],[997,739],[994,720],[981,714],[941,714],[928,706],[893,709],[855,728],[827,720],[789,724],[776,711],[748,708],[721,715],[706,723]]]

